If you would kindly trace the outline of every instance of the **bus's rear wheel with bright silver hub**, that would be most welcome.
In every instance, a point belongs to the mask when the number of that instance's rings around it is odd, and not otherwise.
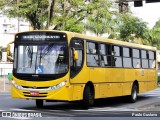
[[[129,100],[131,103],[135,103],[137,101],[137,95],[138,95],[138,86],[136,84],[133,84],[131,95],[129,96]]]

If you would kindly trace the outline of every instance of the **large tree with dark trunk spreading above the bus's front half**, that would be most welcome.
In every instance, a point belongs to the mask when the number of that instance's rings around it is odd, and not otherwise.
[[[0,0],[4,14],[27,19],[33,29],[82,32],[83,20],[101,0]]]

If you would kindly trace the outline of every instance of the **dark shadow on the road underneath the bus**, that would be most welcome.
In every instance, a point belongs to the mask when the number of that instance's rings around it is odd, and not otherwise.
[[[139,102],[142,102],[145,100],[150,100],[150,99],[152,99],[152,97],[141,95],[138,97],[138,100],[136,103],[139,103]],[[95,100],[93,107],[94,108],[120,107],[122,105],[136,104],[136,103],[130,103],[126,96],[113,97],[113,98],[105,98],[105,99]],[[25,108],[23,107],[21,109],[37,110],[37,107],[35,104],[35,107],[33,107],[33,106],[25,107]],[[81,110],[82,107],[81,107],[80,101],[76,101],[76,102],[44,102],[44,107],[41,109],[46,109],[46,110]]]

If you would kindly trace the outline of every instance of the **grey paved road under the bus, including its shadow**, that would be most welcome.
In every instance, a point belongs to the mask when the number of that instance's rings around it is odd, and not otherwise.
[[[125,97],[118,97],[97,100],[95,105],[88,110],[81,109],[78,103],[51,102],[44,105],[43,109],[38,109],[33,100],[12,99],[10,93],[0,93],[0,112],[3,112],[3,116],[6,112],[12,113],[12,118],[5,119],[22,119],[14,113],[24,115],[23,119],[33,119],[33,117],[26,118],[25,115],[35,113],[38,116],[36,119],[40,119],[39,117],[42,116],[42,118],[48,119],[58,117],[56,119],[66,120],[67,117],[67,119],[79,120],[81,117],[98,117],[98,119],[103,119],[103,117],[104,119],[105,117],[144,117],[145,115],[160,117],[160,88],[140,94],[138,101],[133,104],[128,103]],[[0,116],[2,116],[1,113]],[[156,118],[154,117],[154,119]]]

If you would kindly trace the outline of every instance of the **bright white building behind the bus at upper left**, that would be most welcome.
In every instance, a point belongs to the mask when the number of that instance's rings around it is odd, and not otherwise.
[[[8,18],[0,13],[0,46],[7,47],[7,44],[14,40],[15,33],[28,30],[28,21],[22,18]]]

